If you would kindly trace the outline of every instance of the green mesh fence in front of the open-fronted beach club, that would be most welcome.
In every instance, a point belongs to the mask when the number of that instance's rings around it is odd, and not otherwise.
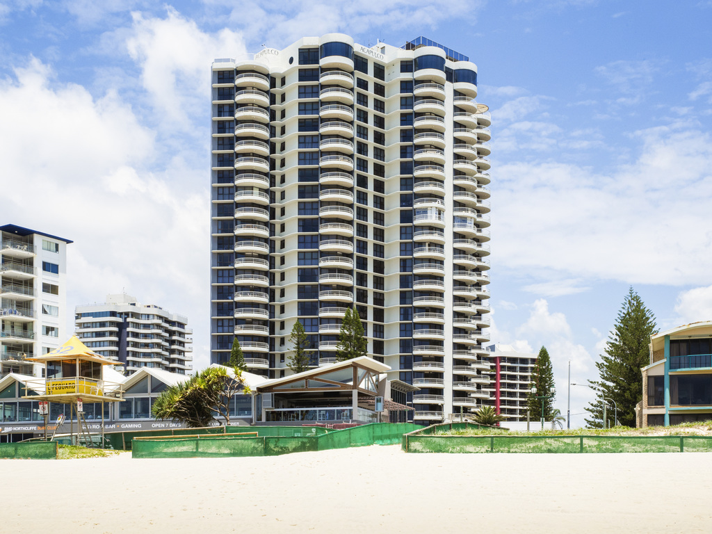
[[[229,426],[227,432],[256,431],[257,437],[189,437],[136,439],[133,458],[210,458],[277,456],[367,445],[397,444],[403,434],[422,428],[412,423],[372,423],[332,430],[318,426]]]

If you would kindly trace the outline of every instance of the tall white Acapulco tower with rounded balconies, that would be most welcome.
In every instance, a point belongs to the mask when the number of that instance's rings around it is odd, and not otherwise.
[[[355,307],[417,422],[491,396],[490,117],[477,68],[426,38],[340,33],[211,68],[211,362],[289,374],[303,323],[335,361]]]

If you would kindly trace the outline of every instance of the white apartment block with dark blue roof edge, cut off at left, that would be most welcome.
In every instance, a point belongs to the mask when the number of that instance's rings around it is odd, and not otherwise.
[[[25,360],[59,347],[66,337],[68,239],[0,226],[0,377],[41,374]]]

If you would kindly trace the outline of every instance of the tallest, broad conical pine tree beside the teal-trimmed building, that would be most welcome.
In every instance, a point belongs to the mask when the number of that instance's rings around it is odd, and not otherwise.
[[[586,411],[591,419],[586,424],[600,428],[603,420],[601,396],[613,399],[618,409],[618,422],[635,426],[635,407],[643,398],[641,367],[650,363],[650,336],[656,333],[655,316],[629,288],[618,312],[613,332],[608,337],[605,354],[596,362],[599,380],[589,380],[597,390],[596,400]],[[614,407],[607,405],[607,418],[614,417]]]

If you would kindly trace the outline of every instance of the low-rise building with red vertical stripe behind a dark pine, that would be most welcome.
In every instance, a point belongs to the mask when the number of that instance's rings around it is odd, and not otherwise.
[[[499,343],[488,348],[485,361],[490,366],[493,397],[482,404],[495,407],[506,421],[526,421],[527,397],[538,355]]]

